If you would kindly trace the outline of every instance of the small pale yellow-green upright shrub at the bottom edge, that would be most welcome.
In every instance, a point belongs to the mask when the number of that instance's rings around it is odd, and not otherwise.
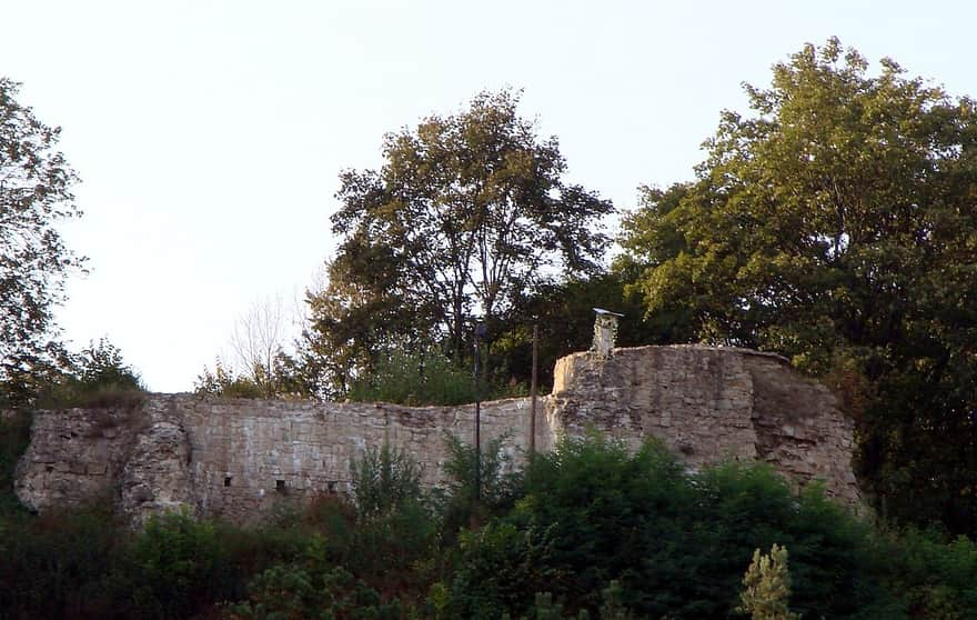
[[[759,549],[753,552],[753,561],[743,576],[739,601],[736,610],[748,613],[752,620],[800,620],[787,607],[790,602],[790,571],[786,548],[774,543],[768,556],[761,553]]]

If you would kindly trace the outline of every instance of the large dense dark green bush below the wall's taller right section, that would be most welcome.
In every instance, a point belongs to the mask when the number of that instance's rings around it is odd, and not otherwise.
[[[657,444],[632,454],[600,437],[534,459],[515,509],[463,538],[452,583],[460,617],[525,613],[548,591],[591,614],[613,580],[637,617],[725,618],[757,547],[798,549],[803,614],[872,618],[890,609],[867,530],[810,489],[795,496],[766,467],[688,473]],[[859,616],[864,614],[864,616]]]

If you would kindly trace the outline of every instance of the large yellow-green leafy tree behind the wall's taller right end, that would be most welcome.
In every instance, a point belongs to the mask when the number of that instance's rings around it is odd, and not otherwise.
[[[787,356],[846,397],[879,509],[977,530],[977,122],[837,39],[746,86],[694,182],[624,246],[648,312]],[[679,330],[681,331],[681,330]]]

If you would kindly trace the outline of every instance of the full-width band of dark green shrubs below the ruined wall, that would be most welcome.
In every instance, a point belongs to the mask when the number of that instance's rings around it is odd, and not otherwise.
[[[168,514],[132,532],[101,503],[8,511],[0,610],[14,620],[977,614],[973,542],[877,529],[763,466],[693,473],[657,444],[633,453],[590,437],[521,476],[486,451],[475,502],[474,454],[457,442],[453,453],[454,478],[436,492],[410,459],[382,450],[355,463],[349,500],[283,508],[253,529]],[[754,554],[775,544],[788,561],[774,577],[756,563],[744,598]]]

